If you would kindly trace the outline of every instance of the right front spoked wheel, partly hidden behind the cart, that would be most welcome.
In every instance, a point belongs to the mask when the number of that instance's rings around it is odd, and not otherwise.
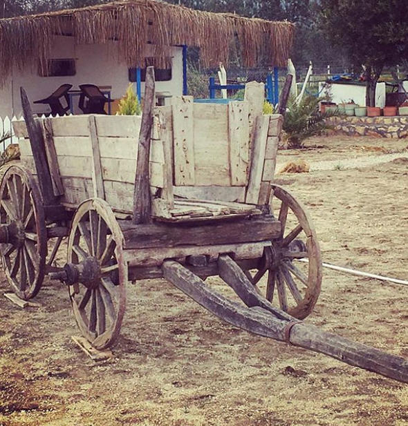
[[[272,185],[272,191],[272,213],[281,222],[281,235],[266,249],[264,267],[252,282],[270,302],[303,319],[315,306],[322,284],[319,244],[302,204],[281,186]]]

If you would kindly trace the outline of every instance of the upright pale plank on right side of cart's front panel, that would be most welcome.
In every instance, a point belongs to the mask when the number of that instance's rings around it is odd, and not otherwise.
[[[248,184],[250,163],[250,128],[248,102],[234,101],[228,105],[228,144],[232,186]]]

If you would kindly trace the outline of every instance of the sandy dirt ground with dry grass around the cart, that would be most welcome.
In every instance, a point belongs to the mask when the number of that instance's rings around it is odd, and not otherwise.
[[[407,144],[321,137],[279,152],[279,166],[312,166],[277,182],[310,211],[326,262],[408,279]],[[400,158],[376,159],[389,153]],[[408,358],[407,296],[402,285],[325,269],[306,321]],[[407,385],[251,336],[164,280],[128,287],[114,358],[99,363],[71,340],[78,331],[64,286],[46,280],[37,300],[43,307],[23,310],[0,298],[1,426],[408,424]]]

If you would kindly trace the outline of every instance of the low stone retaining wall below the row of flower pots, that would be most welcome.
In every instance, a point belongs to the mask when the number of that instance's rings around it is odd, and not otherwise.
[[[331,117],[334,133],[349,136],[408,137],[408,116]]]

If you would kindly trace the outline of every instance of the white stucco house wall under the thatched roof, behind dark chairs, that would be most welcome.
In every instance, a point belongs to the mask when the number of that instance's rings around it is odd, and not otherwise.
[[[118,61],[117,43],[76,45],[73,37],[56,36],[53,44],[53,55],[50,59],[75,58],[76,75],[72,77],[40,77],[37,66],[29,66],[25,70],[14,70],[3,88],[0,88],[0,117],[20,115],[21,102],[19,88],[23,86],[31,101],[47,97],[61,84],[73,84],[78,89],[80,84],[111,86],[111,97],[120,98],[129,85],[128,68]],[[157,81],[156,91],[168,91],[171,95],[182,95],[183,92],[183,49],[172,48],[173,70],[171,81]],[[0,70],[1,72],[1,70]],[[144,92],[142,83],[142,93]],[[75,102],[78,97],[75,97]],[[42,113],[47,106],[33,105],[35,113]]]

